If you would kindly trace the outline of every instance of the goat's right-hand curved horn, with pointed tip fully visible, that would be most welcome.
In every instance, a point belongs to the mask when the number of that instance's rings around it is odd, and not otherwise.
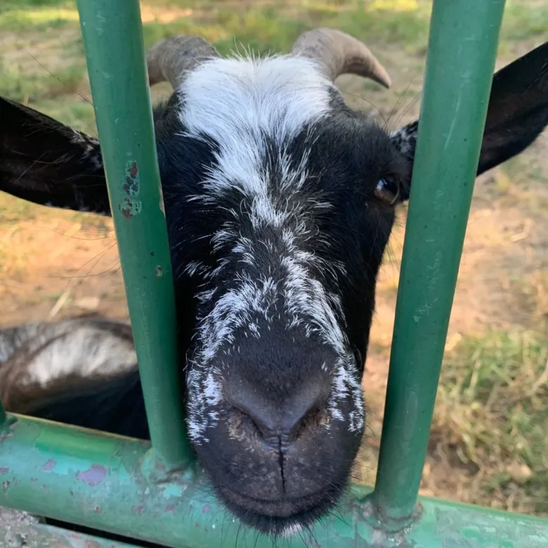
[[[339,74],[358,74],[389,88],[391,80],[384,67],[369,48],[350,34],[334,29],[315,29],[304,32],[293,45],[292,55],[305,56],[325,67],[331,81]]]

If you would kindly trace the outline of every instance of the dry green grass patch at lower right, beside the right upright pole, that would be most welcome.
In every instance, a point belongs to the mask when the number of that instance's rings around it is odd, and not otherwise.
[[[537,332],[468,336],[449,353],[433,438],[481,476],[469,502],[548,516],[547,400],[548,341]]]

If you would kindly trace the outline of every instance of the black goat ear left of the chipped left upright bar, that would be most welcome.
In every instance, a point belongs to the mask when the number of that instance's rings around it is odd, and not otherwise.
[[[110,213],[98,141],[4,98],[0,190],[36,204]]]

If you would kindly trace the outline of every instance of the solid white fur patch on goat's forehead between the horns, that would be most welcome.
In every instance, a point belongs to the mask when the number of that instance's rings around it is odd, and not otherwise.
[[[179,89],[181,122],[189,136],[207,136],[220,146],[209,188],[238,185],[264,196],[264,136],[285,145],[328,115],[330,89],[313,61],[289,56],[216,59],[190,72]]]

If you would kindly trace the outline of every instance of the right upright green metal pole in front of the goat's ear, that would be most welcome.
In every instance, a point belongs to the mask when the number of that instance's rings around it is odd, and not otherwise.
[[[417,500],[503,11],[504,0],[433,3],[373,496],[385,524]]]

